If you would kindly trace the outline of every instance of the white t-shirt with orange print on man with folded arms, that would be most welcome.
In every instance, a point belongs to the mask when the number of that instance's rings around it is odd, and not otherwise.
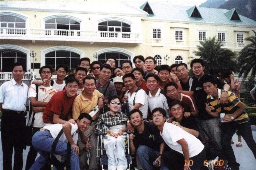
[[[42,85],[38,86],[38,97],[37,101],[40,102],[49,102],[52,96],[56,93],[56,89],[54,89],[52,86],[44,87]],[[36,85],[32,84],[29,86],[28,89],[28,98],[29,97],[36,97]],[[37,112],[35,114],[35,121],[34,121],[34,127],[41,128],[44,127],[44,121],[43,121],[43,111]],[[29,117],[28,126],[30,126],[32,122],[32,116]]]

